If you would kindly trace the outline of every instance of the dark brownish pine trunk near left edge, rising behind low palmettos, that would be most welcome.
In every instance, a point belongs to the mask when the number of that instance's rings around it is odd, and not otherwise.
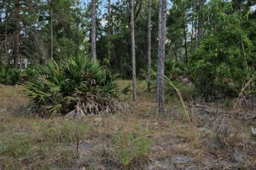
[[[14,67],[19,67],[19,49],[20,49],[20,1],[16,0],[14,3],[15,16],[15,33],[14,33]]]

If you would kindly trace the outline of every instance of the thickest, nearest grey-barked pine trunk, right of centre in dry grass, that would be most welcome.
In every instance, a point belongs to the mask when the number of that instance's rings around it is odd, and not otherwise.
[[[157,91],[158,91],[158,111],[159,114],[164,113],[164,60],[165,60],[165,39],[166,39],[166,10],[167,1],[160,0],[161,6],[161,34],[159,35],[158,47],[158,68],[157,68]]]

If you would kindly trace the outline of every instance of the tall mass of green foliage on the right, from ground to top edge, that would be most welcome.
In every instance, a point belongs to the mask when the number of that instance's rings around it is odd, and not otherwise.
[[[204,17],[210,21],[205,28],[209,29],[189,65],[198,92],[205,96],[236,97],[255,73],[255,37],[251,31],[256,31],[256,22],[249,18],[252,13],[234,11],[232,5],[211,1],[205,6],[208,11]],[[255,88],[254,82],[251,88]]]

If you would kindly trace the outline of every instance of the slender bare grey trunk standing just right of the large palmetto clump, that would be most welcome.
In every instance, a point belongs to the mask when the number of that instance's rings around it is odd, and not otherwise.
[[[133,0],[130,0],[130,27],[131,27],[131,54],[132,54],[132,85],[133,85],[133,91],[132,91],[132,100],[136,101],[136,65],[135,65],[135,37],[134,37],[134,13],[133,13]]]

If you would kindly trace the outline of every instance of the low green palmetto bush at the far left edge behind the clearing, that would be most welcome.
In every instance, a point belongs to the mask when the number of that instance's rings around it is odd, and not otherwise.
[[[22,82],[22,71],[11,67],[0,66],[0,84],[15,85]]]

